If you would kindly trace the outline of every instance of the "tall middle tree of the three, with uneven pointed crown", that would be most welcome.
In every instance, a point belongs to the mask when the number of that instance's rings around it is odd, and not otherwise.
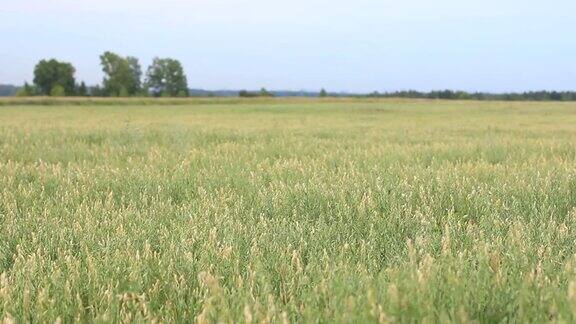
[[[112,52],[100,55],[104,72],[104,93],[108,96],[133,96],[141,91],[142,69],[135,57]]]

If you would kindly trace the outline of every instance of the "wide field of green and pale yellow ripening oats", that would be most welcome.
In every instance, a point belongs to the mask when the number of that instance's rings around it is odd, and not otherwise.
[[[4,102],[0,319],[574,322],[576,104]]]

